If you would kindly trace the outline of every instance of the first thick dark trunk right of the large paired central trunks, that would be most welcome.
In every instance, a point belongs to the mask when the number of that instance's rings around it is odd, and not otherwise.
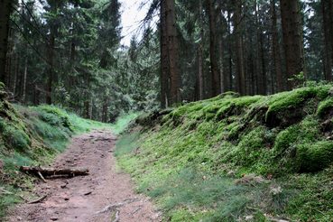
[[[214,0],[207,0],[209,14],[209,52],[210,52],[210,72],[211,72],[211,96],[216,97],[220,89],[219,71],[217,63],[217,27]]]

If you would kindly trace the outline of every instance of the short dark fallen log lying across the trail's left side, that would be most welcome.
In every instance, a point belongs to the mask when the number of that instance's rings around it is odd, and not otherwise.
[[[34,166],[21,166],[20,171],[30,173],[40,178],[51,178],[57,176],[87,176],[89,174],[88,169],[54,169],[54,168],[42,168]]]

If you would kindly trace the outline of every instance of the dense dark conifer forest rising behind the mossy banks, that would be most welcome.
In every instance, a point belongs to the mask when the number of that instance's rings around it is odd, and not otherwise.
[[[332,0],[143,4],[148,14],[124,46],[117,0],[1,0],[10,99],[111,122],[230,90],[270,95],[332,79]]]

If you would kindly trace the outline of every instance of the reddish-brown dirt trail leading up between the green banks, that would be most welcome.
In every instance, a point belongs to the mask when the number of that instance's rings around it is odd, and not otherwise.
[[[36,185],[33,191],[47,199],[18,206],[8,221],[160,221],[149,199],[135,194],[130,177],[116,171],[115,143],[103,131],[74,137],[52,167],[88,168],[90,174]]]

